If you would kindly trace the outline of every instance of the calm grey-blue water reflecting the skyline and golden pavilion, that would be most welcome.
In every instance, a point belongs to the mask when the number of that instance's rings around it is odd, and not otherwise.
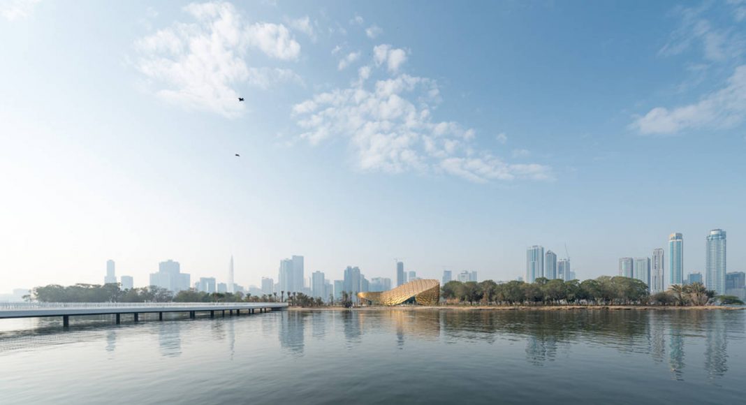
[[[0,320],[2,404],[743,404],[746,311]]]

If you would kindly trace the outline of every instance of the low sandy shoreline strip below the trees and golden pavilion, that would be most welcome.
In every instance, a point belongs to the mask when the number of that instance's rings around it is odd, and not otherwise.
[[[486,306],[486,305],[439,305],[439,306],[396,306],[396,307],[383,307],[383,306],[371,306],[371,307],[288,307],[289,311],[381,311],[381,310],[397,310],[397,311],[408,311],[408,310],[438,310],[438,311],[692,311],[692,310],[724,310],[724,311],[739,311],[746,310],[746,306],[742,307],[727,307],[717,305],[706,305],[706,306],[693,306],[693,307],[657,307],[651,305],[636,306],[636,305],[557,305],[548,307],[528,307],[528,306]]]

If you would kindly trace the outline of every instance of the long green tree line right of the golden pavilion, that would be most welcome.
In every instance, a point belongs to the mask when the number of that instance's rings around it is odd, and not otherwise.
[[[486,305],[706,305],[714,301],[715,292],[702,283],[674,285],[665,292],[651,295],[648,285],[630,277],[601,276],[589,280],[549,280],[537,278],[533,283],[485,280],[449,281],[441,288],[446,304]],[[721,296],[723,304],[742,303],[736,297]]]

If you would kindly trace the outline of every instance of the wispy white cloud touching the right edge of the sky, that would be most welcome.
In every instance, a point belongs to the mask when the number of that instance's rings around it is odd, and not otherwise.
[[[636,119],[631,128],[641,134],[676,134],[696,128],[732,128],[746,118],[746,65],[738,66],[721,90],[700,101],[675,107],[655,107]]]

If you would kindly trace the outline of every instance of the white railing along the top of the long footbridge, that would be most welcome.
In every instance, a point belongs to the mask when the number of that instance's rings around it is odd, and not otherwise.
[[[138,307],[165,307],[165,308],[190,308],[190,307],[236,307],[256,308],[266,305],[268,307],[285,307],[282,302],[3,302],[0,303],[1,310],[51,310],[51,309],[87,309],[87,308],[133,308]]]

